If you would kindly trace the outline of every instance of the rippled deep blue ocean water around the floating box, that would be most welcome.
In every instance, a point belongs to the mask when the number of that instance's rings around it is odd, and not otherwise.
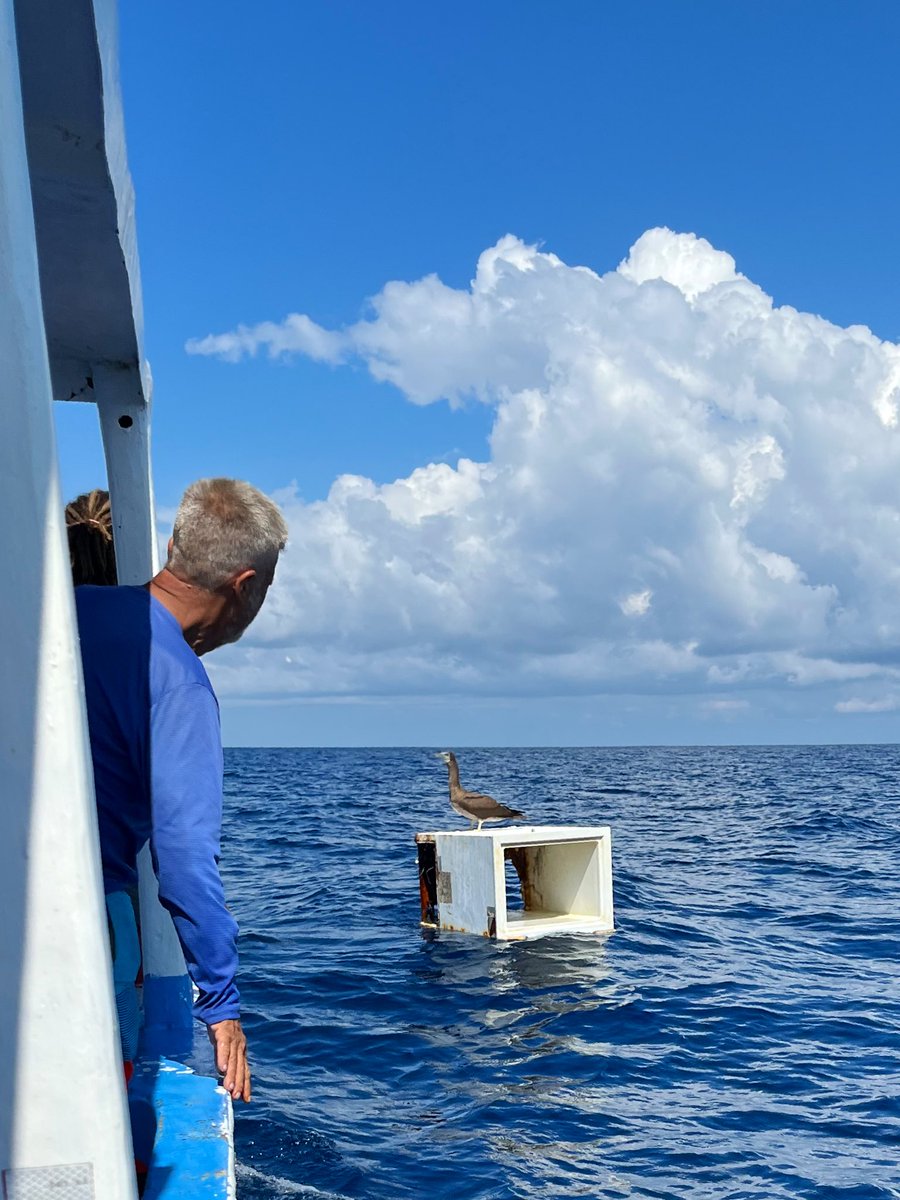
[[[612,826],[617,931],[425,935],[426,750],[228,751],[239,1200],[900,1196],[900,746],[458,757]]]

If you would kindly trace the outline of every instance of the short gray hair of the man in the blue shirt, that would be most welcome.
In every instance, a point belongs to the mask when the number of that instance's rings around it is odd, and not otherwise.
[[[239,479],[198,479],[181,498],[166,565],[208,592],[250,569],[258,582],[268,581],[287,540],[281,510],[256,487]]]

